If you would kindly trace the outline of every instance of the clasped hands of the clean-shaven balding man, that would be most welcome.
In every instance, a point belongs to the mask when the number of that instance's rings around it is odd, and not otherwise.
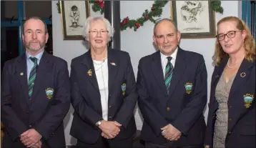
[[[165,139],[170,141],[176,141],[181,136],[181,132],[178,129],[172,126],[172,124],[167,124],[167,126],[162,127],[162,135]]]

